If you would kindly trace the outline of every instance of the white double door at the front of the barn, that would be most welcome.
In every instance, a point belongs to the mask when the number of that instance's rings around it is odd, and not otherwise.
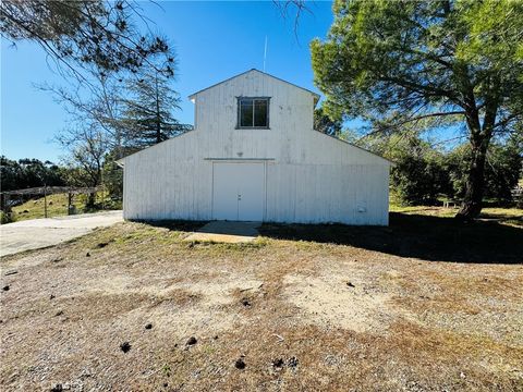
[[[212,163],[212,219],[263,221],[265,163]]]

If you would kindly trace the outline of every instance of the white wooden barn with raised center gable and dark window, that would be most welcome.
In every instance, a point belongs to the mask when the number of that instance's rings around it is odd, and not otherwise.
[[[388,224],[391,162],[315,131],[317,94],[251,70],[190,99],[194,131],[122,160],[125,219]]]

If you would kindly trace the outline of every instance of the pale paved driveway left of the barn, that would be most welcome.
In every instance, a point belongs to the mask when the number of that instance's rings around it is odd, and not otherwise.
[[[122,211],[108,211],[2,224],[0,256],[57,245],[121,221]]]

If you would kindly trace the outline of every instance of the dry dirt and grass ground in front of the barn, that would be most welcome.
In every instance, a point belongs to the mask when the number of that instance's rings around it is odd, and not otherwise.
[[[125,222],[4,257],[1,390],[523,391],[523,229],[424,219]]]

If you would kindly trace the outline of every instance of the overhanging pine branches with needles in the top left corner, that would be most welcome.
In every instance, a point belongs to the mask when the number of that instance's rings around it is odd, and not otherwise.
[[[143,65],[172,75],[165,39],[142,34],[133,19],[146,23],[136,2],[118,0],[3,0],[0,32],[12,40],[37,42],[61,69],[85,79],[82,69],[98,68],[106,73],[137,72]],[[163,61],[151,62],[162,56]]]

